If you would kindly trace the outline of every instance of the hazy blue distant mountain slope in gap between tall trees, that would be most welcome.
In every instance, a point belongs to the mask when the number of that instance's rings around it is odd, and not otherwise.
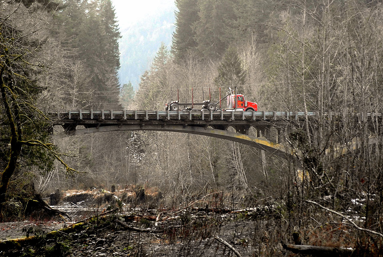
[[[149,68],[161,42],[170,49],[174,21],[174,6],[170,6],[158,15],[148,16],[126,29],[120,29],[121,85],[131,81],[137,89],[141,74]]]

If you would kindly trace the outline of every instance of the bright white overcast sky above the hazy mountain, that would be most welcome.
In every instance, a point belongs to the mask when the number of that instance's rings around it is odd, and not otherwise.
[[[175,0],[112,0],[121,30],[137,20],[144,20],[165,8],[174,5]]]

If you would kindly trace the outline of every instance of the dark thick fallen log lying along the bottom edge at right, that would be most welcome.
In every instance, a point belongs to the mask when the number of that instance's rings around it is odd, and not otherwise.
[[[305,254],[312,256],[326,256],[326,257],[350,257],[355,249],[345,247],[327,247],[316,245],[296,245],[296,244],[284,244],[282,247],[285,250],[289,250],[295,254]]]

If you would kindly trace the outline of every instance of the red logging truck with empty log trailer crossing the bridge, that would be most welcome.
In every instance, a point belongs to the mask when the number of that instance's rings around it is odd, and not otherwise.
[[[221,102],[223,99],[226,98],[226,108],[222,108]],[[219,104],[219,105],[218,105]],[[195,108],[195,105],[201,105],[201,109]],[[245,99],[245,96],[242,94],[237,94],[237,88],[231,89],[229,87],[228,94],[226,96],[221,97],[221,87],[219,87],[219,100],[214,102],[214,100],[211,100],[211,94],[210,94],[210,88],[209,88],[209,100],[203,100],[203,102],[194,102],[193,97],[193,88],[191,88],[191,102],[180,102],[179,96],[178,96],[178,89],[177,89],[177,100],[165,103],[164,107],[165,110],[170,110],[177,112],[180,110],[180,106],[183,106],[183,109],[181,111],[188,111],[188,110],[208,110],[208,111],[234,111],[234,110],[244,110],[245,112],[247,110],[257,111],[258,105],[256,102],[250,102]]]

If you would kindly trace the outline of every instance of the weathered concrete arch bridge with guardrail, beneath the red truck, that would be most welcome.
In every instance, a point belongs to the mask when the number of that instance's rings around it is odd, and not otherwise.
[[[285,143],[284,133],[292,125],[302,126],[305,120],[304,112],[243,110],[58,110],[50,111],[49,115],[55,121],[54,125],[64,128],[64,133],[54,134],[53,138],[123,130],[170,131],[223,138],[250,145],[284,159],[299,155]],[[309,120],[316,119],[315,112],[308,112],[307,115]],[[230,127],[234,128],[235,132],[230,131]],[[250,127],[254,128],[254,135],[249,135]],[[350,147],[357,148],[358,142],[351,142],[347,146],[339,144],[332,153],[344,154]]]

